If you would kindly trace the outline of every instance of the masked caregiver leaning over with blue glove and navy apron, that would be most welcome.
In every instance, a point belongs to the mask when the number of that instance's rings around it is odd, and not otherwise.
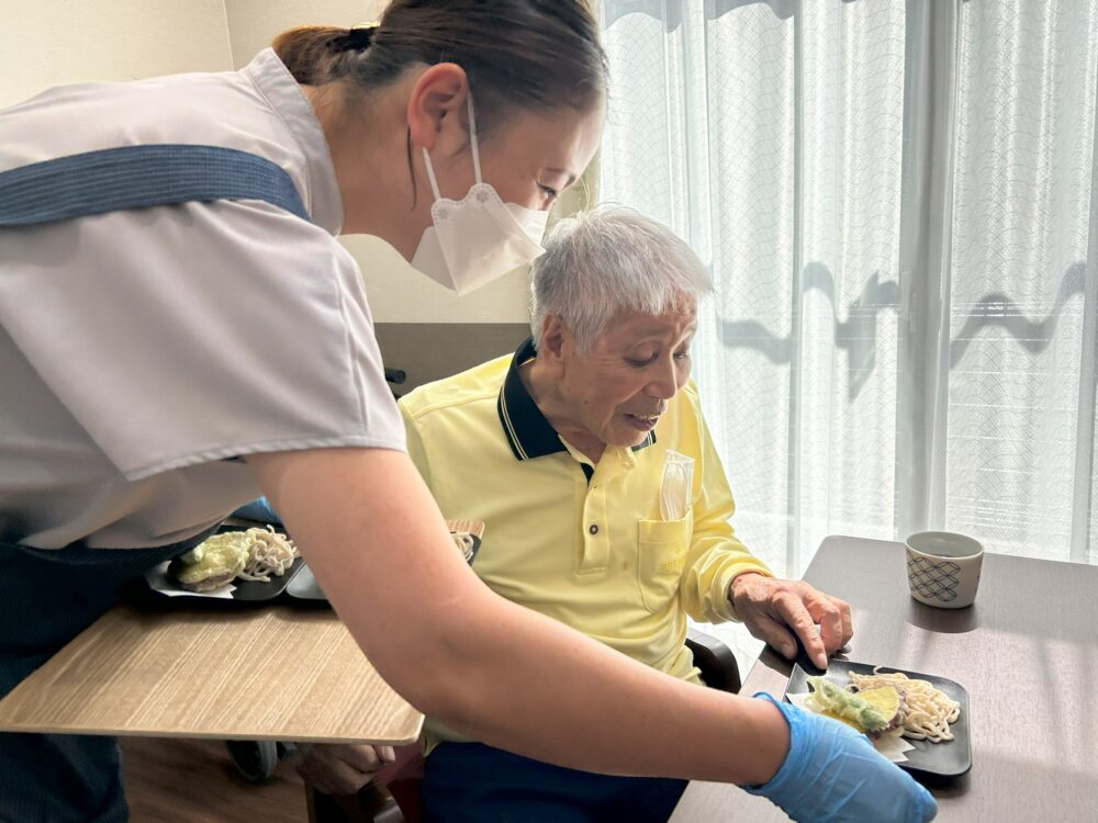
[[[931,813],[836,723],[656,674],[491,594],[404,453],[335,236],[377,235],[458,291],[536,256],[598,142],[587,7],[396,0],[378,29],[279,46],[296,80],[267,50],[0,112],[0,694],[261,493],[378,670],[478,740],[765,783],[802,820]],[[217,193],[267,172],[290,194]],[[125,818],[113,741],[0,735],[0,820]]]

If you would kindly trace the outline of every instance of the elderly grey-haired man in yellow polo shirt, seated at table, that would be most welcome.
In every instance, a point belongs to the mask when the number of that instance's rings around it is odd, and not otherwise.
[[[775,579],[728,522],[732,496],[690,382],[697,304],[710,290],[702,262],[624,208],[562,221],[546,248],[534,337],[401,402],[408,451],[442,512],[486,525],[475,573],[695,683],[687,617],[741,620],[791,657],[792,628],[826,664],[851,636],[847,604]],[[429,820],[665,820],[684,786],[574,771],[427,729]],[[322,788],[350,791],[379,759],[317,747],[304,768]]]

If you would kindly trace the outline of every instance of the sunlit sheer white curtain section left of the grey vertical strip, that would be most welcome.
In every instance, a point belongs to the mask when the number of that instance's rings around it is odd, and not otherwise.
[[[607,3],[602,192],[712,264],[695,368],[733,522],[798,575],[828,533],[892,537],[903,4],[675,9]]]

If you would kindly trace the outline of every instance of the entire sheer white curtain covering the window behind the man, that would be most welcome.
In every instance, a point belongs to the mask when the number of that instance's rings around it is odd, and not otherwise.
[[[600,196],[712,266],[694,373],[748,544],[1098,563],[1098,2],[602,11]]]

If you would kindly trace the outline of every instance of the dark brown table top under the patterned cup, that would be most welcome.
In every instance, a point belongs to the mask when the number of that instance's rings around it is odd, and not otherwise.
[[[907,593],[899,543],[828,538],[805,579],[849,601],[844,657],[949,677],[968,690],[972,771],[929,788],[940,821],[1098,821],[1098,567],[987,554],[974,606]],[[769,649],[743,694],[781,696]],[[761,798],[694,782],[672,823],[782,821]]]

